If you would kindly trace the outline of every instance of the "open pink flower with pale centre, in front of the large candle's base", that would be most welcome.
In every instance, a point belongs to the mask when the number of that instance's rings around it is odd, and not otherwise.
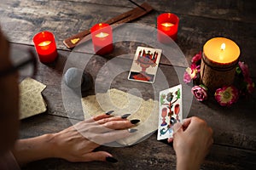
[[[219,105],[230,106],[233,103],[236,103],[239,98],[239,93],[234,86],[224,86],[223,88],[218,88],[214,96]]]

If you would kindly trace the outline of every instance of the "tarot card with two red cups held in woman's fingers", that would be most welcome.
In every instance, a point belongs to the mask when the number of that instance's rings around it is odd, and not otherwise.
[[[172,138],[172,127],[183,119],[182,85],[160,91],[157,139]]]

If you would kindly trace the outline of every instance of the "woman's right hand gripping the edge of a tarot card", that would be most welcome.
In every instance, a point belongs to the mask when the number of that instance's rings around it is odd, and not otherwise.
[[[207,122],[193,116],[184,119],[183,124],[174,125],[173,131],[177,170],[199,169],[213,143],[212,128],[207,126]]]

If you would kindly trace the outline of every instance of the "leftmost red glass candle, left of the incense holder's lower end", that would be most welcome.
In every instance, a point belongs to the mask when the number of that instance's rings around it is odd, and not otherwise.
[[[51,63],[58,56],[55,36],[49,31],[38,32],[33,37],[33,42],[42,63]]]

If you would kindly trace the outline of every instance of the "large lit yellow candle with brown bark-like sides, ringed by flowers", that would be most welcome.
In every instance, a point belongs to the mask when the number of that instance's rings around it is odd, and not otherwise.
[[[212,90],[234,82],[240,48],[236,42],[214,37],[203,47],[201,82]]]

